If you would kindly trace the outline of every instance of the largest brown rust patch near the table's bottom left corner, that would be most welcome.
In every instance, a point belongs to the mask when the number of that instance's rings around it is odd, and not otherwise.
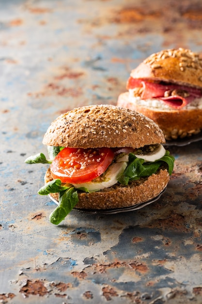
[[[28,298],[30,295],[43,297],[48,294],[47,287],[44,286],[44,282],[41,280],[27,280],[19,292],[22,293],[25,298]]]

